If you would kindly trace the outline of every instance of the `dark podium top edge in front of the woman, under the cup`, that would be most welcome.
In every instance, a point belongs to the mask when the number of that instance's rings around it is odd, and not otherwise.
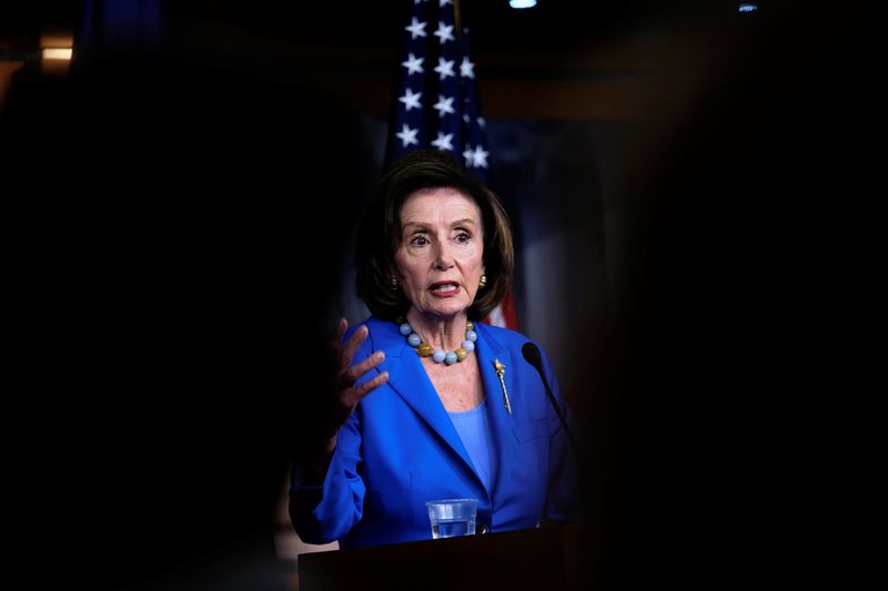
[[[503,531],[299,557],[300,591],[581,589],[575,526]]]

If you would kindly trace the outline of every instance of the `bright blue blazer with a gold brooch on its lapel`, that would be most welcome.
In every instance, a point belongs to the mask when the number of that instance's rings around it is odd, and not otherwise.
[[[579,518],[576,458],[539,375],[522,357],[526,337],[475,323],[496,458],[487,490],[397,325],[375,317],[365,324],[370,334],[354,363],[384,350],[379,370],[389,371],[389,381],[361,400],[340,429],[322,486],[302,486],[294,467],[292,517],[303,541],[339,540],[350,548],[431,539],[425,501],[432,499],[478,499],[478,527],[491,531],[534,528],[543,516],[557,522]],[[497,359],[505,366],[512,415],[503,401]],[[543,367],[561,401],[545,354]]]

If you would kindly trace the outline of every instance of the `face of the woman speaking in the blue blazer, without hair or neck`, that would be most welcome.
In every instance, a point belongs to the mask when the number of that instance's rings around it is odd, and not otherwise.
[[[398,281],[413,308],[450,317],[466,310],[484,273],[484,225],[475,202],[455,188],[424,188],[401,207]]]

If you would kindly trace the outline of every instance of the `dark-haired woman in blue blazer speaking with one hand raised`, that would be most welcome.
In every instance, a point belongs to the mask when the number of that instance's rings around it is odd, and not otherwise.
[[[341,548],[428,539],[425,501],[444,498],[478,499],[480,531],[575,520],[576,458],[522,357],[527,338],[477,322],[513,268],[496,196],[443,152],[408,154],[383,180],[355,258],[373,316],[334,334],[332,411],[294,466],[300,537]]]

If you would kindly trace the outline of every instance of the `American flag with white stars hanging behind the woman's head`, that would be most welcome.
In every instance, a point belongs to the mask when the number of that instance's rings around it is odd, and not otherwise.
[[[491,186],[475,64],[458,0],[413,0],[404,27],[386,161],[423,147],[450,152]],[[484,319],[517,328],[512,292]]]

